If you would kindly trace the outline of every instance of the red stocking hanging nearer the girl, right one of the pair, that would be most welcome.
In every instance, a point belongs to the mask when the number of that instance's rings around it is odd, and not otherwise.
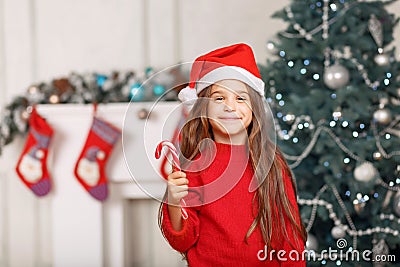
[[[108,195],[105,165],[120,136],[120,129],[94,116],[85,146],[75,165],[74,173],[78,181],[100,201]]]

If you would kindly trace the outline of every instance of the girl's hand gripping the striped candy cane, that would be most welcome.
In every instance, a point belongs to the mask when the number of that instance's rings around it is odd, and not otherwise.
[[[168,204],[180,205],[182,198],[188,195],[189,180],[186,178],[186,173],[176,171],[168,175]]]

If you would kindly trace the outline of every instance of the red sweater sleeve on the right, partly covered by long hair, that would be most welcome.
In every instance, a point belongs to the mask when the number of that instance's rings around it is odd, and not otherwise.
[[[294,217],[298,224],[301,224],[299,208],[297,205],[297,199],[294,192],[294,188],[292,185],[292,178],[287,175],[285,172],[283,173],[283,180],[285,185],[285,191],[288,196],[290,203],[294,208]],[[289,219],[286,220],[286,229],[290,242],[285,242],[283,245],[283,249],[286,251],[287,261],[282,262],[282,267],[296,266],[302,267],[306,266],[305,261],[302,259],[304,253],[304,242],[302,241],[301,236],[290,226]],[[294,246],[294,247],[293,247]],[[295,252],[297,251],[297,252]]]

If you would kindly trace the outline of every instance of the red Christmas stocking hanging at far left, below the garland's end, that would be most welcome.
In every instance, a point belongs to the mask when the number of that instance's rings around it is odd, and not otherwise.
[[[38,196],[46,195],[51,188],[46,160],[52,135],[53,129],[33,107],[29,117],[28,138],[16,171],[22,182]]]

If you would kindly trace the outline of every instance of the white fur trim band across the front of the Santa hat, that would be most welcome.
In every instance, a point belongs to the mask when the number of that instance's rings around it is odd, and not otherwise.
[[[253,75],[248,70],[236,66],[219,67],[204,75],[196,82],[197,94],[203,91],[207,86],[227,79],[242,81],[264,97],[264,81]]]

